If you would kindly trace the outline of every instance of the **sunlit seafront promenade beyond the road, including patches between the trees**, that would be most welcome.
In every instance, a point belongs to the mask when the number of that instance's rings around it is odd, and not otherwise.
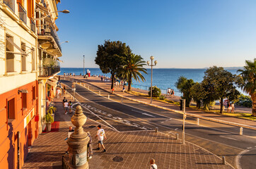
[[[61,76],[62,79],[64,79],[64,76]],[[95,87],[98,87],[100,89],[105,90],[106,92],[109,92],[110,94],[112,93],[112,90],[110,89],[111,86],[111,82],[107,81],[107,82],[102,82],[100,80],[100,77],[88,77],[88,79],[84,79],[82,76],[75,76],[75,77],[65,77],[69,80],[74,80],[74,82],[76,82],[77,80],[83,80],[83,82],[87,82],[88,84],[94,85]],[[115,87],[115,86],[114,86]],[[135,92],[144,92],[146,93],[145,90],[141,90],[141,89],[136,89],[133,88],[132,89]],[[131,99],[133,101],[139,101],[141,103],[144,104],[150,104],[150,99],[144,96],[136,96],[134,94],[129,94],[127,92],[122,92],[122,87],[115,87],[115,94],[117,94],[117,96],[124,96],[127,99]],[[174,99],[174,101],[179,101],[180,97],[176,96]],[[168,108],[171,109],[173,111],[180,111],[180,107],[175,105],[175,104],[167,104],[164,103],[162,101],[156,101],[153,100],[152,104],[150,104],[151,106],[157,106],[160,108]],[[241,112],[247,112],[250,113],[251,109],[250,108],[240,108]],[[216,114],[216,113],[207,113],[205,111],[198,111],[198,110],[194,110],[193,108],[186,108],[186,113],[191,113],[194,115],[200,115],[202,117],[205,118],[213,118],[216,120],[223,120],[224,122],[226,121],[227,123],[237,123],[240,125],[248,125],[248,126],[252,126],[252,127],[256,127],[256,123],[255,121],[252,120],[245,120],[245,119],[241,119],[241,118],[233,118],[231,116],[226,116],[226,115],[220,115],[220,114]]]

